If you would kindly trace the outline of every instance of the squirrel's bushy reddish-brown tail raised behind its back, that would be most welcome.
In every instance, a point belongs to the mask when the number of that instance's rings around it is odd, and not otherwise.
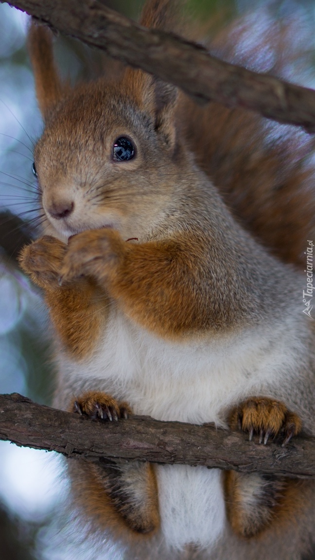
[[[188,104],[188,141],[234,216],[281,260],[304,266],[315,239],[312,139],[279,141],[257,115]]]

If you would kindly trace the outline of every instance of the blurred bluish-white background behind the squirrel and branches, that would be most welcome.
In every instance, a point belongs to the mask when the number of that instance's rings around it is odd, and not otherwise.
[[[107,3],[137,18],[143,2]],[[230,26],[233,49],[226,55],[218,39],[216,54],[315,87],[313,0],[189,0],[187,10],[212,37]],[[49,404],[54,376],[47,311],[16,261],[21,246],[38,235],[40,221],[32,152],[43,125],[25,48],[27,21],[22,12],[0,4],[0,393],[16,391]],[[280,40],[290,51],[282,64]],[[104,66],[103,55],[67,38],[56,39],[55,54],[62,75],[73,82]],[[290,129],[268,126],[275,138]],[[300,137],[303,141],[302,132]],[[123,558],[118,549],[100,553],[78,539],[57,455],[0,441],[0,457],[2,560]]]

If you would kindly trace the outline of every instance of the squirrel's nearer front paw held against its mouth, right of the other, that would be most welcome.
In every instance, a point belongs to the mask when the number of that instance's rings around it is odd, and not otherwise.
[[[73,235],[64,256],[60,282],[78,276],[104,279],[122,253],[123,243],[117,231],[103,228]]]

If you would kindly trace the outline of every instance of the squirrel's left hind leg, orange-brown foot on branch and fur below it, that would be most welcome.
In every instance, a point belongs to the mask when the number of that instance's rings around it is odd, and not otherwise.
[[[132,411],[126,403],[118,403],[101,391],[81,395],[70,410],[80,410],[91,418],[99,417],[99,409],[111,410],[117,417]],[[107,417],[108,418],[108,417]],[[101,529],[117,537],[126,532],[131,539],[154,533],[159,528],[158,489],[153,465],[147,463],[114,464],[109,460],[95,463],[80,461],[71,465],[72,488],[78,507],[89,523],[95,520]],[[80,496],[80,498],[78,498]]]

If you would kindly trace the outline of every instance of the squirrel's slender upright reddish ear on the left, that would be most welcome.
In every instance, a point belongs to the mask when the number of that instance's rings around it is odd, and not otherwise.
[[[54,64],[52,32],[31,23],[28,48],[35,77],[36,97],[44,120],[62,97],[62,82]]]

